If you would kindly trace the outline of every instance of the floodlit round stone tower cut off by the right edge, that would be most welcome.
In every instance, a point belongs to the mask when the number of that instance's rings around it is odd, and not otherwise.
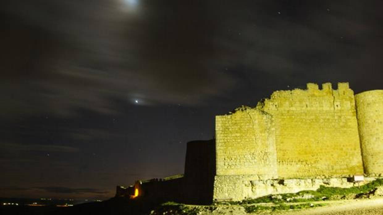
[[[365,173],[383,174],[383,90],[355,95]]]

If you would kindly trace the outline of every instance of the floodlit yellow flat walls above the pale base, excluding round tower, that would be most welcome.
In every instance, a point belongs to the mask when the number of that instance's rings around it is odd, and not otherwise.
[[[276,155],[267,155],[276,157],[279,178],[363,174],[354,91],[348,83],[321,88],[308,83],[307,89],[275,91],[255,108],[216,116],[217,175],[275,171],[256,153],[272,152],[270,140]]]

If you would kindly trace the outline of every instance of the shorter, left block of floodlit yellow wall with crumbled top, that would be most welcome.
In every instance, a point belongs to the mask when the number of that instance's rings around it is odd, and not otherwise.
[[[216,175],[277,178],[272,116],[255,108],[238,108],[216,116]]]

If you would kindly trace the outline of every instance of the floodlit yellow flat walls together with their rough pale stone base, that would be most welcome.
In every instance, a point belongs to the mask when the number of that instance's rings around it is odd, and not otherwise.
[[[275,91],[255,108],[216,116],[214,199],[353,186],[347,177],[363,174],[360,148],[348,83],[338,83],[336,90],[331,83],[322,89],[309,83],[305,90]],[[381,172],[381,154],[368,153],[376,155],[371,168]]]

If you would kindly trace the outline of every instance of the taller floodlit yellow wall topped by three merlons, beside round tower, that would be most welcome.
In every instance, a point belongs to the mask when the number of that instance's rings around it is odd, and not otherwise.
[[[348,83],[276,91],[257,108],[275,124],[280,178],[362,174],[354,92]]]

